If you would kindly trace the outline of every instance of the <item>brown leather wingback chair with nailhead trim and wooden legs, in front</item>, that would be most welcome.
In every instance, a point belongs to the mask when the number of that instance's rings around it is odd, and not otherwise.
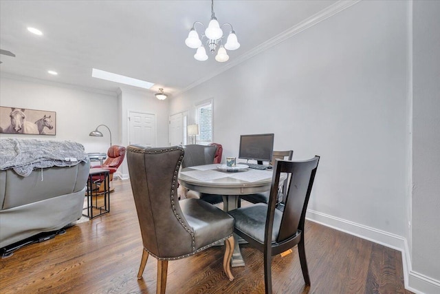
[[[127,162],[133,198],[140,224],[142,278],[148,255],[157,258],[157,293],[165,293],[169,260],[194,255],[210,246],[225,243],[223,270],[230,280],[234,251],[234,219],[221,209],[199,199],[177,199],[177,176],[184,158],[179,146],[127,147]]]

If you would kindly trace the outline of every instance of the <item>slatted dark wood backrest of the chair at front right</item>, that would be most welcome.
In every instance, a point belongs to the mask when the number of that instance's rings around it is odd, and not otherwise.
[[[285,207],[276,242],[283,243],[286,240],[295,239],[304,231],[305,213],[316,170],[318,169],[318,162],[319,156],[301,161],[276,160],[267,210],[265,244],[272,243],[274,211],[281,173],[286,173],[289,180],[285,195]]]

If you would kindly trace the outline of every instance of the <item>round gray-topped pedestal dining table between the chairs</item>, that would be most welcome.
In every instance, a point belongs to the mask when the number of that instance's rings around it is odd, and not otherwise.
[[[186,167],[179,172],[179,183],[186,189],[200,193],[223,196],[223,210],[236,209],[239,196],[270,191],[272,184],[272,169],[228,169],[224,165],[199,165]],[[282,183],[285,175],[281,175]],[[239,236],[234,234],[235,246],[231,266],[244,266],[241,255]]]

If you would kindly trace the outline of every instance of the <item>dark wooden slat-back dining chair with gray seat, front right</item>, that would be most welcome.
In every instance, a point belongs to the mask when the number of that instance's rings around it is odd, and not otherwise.
[[[304,223],[318,162],[319,156],[302,161],[276,160],[269,203],[257,203],[229,211],[235,219],[234,233],[264,254],[267,294],[272,293],[272,256],[297,244],[305,284],[310,285],[305,257]],[[275,209],[281,173],[286,173],[289,178],[283,211]]]

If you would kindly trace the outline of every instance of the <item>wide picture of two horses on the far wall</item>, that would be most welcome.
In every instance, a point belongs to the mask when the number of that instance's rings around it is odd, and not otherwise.
[[[0,106],[0,133],[56,135],[56,112]]]

